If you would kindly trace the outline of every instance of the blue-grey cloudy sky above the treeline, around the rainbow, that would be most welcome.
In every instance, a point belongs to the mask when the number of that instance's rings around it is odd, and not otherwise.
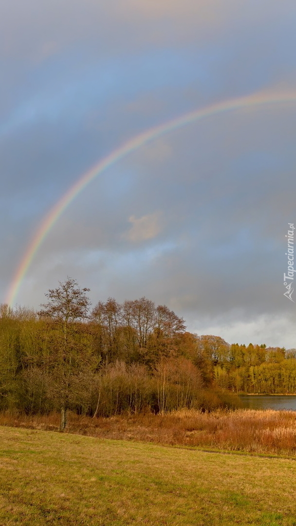
[[[275,93],[281,102],[183,126],[95,177],[13,301],[38,308],[68,275],[93,304],[146,296],[192,332],[296,347],[283,295],[294,0],[0,0],[0,11],[0,301],[46,214],[100,159],[187,112]]]

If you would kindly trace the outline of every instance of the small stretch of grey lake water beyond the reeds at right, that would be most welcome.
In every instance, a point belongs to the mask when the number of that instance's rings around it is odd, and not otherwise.
[[[296,395],[239,395],[244,408],[296,411]]]

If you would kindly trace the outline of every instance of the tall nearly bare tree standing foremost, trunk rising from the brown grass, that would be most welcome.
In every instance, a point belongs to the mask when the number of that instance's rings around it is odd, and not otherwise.
[[[67,277],[56,289],[49,289],[45,296],[48,302],[43,304],[39,316],[49,322],[52,338],[49,345],[53,354],[53,370],[60,406],[60,431],[67,422],[70,386],[75,370],[79,370],[81,358],[81,333],[79,322],[88,316],[90,301],[86,296],[88,288],[81,289],[77,281]],[[79,352],[80,351],[80,352]]]

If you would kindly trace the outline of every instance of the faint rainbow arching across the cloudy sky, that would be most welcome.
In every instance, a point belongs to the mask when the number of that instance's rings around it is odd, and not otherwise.
[[[11,285],[9,286],[5,302],[13,306],[15,298],[17,296],[19,287],[26,275],[26,272],[34,259],[37,250],[46,238],[48,232],[53,227],[55,222],[63,214],[67,206],[72,203],[73,199],[98,175],[102,174],[107,168],[117,163],[120,159],[130,154],[132,151],[137,150],[141,146],[149,143],[158,137],[186,126],[190,123],[194,123],[199,119],[210,117],[211,115],[217,115],[219,113],[228,112],[230,110],[248,108],[253,106],[267,105],[267,104],[279,104],[279,103],[294,103],[296,102],[296,92],[258,92],[245,97],[233,98],[225,100],[210,106],[206,106],[201,109],[197,109],[193,112],[187,113],[175,119],[169,120],[165,124],[161,124],[154,128],[150,128],[143,133],[140,133],[136,137],[128,140],[123,145],[119,146],[115,150],[111,151],[109,155],[99,160],[92,168],[90,168],[85,174],[79,177],[76,183],[68,189],[66,194],[60,198],[52,209],[49,210],[47,215],[41,221],[38,229],[36,230],[32,240],[30,241],[25,254],[19,264],[16,273],[12,279]]]

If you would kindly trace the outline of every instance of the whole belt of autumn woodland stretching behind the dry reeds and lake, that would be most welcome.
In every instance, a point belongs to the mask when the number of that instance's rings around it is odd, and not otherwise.
[[[296,349],[186,331],[164,305],[109,298],[90,311],[72,278],[38,312],[0,307],[0,410],[113,416],[236,407],[236,393],[296,393]]]

